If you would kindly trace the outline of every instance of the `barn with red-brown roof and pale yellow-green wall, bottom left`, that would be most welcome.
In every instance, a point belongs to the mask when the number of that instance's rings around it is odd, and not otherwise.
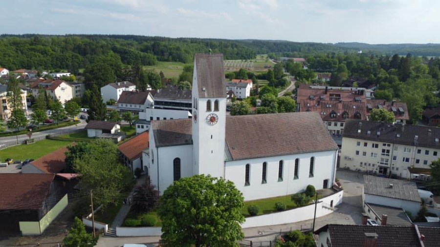
[[[66,208],[54,174],[0,174],[0,233],[40,235]]]

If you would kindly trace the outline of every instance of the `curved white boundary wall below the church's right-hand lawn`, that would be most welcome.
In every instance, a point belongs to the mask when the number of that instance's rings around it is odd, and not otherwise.
[[[330,208],[331,201],[333,201],[333,207],[341,204],[343,193],[344,191],[341,190],[328,197],[319,199],[316,206],[316,218],[332,213],[333,210]],[[245,222],[242,224],[242,228],[282,225],[310,220],[313,219],[314,211],[315,205],[311,204],[308,206],[297,207],[282,212],[247,217],[245,219]]]

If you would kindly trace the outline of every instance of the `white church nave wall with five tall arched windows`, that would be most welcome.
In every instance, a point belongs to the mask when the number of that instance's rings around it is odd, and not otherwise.
[[[284,196],[304,191],[307,185],[322,189],[324,180],[333,185],[335,169],[334,151],[275,156],[251,160],[229,161],[225,164],[225,178],[242,191],[244,200]],[[313,177],[309,177],[310,157],[315,157]],[[295,159],[299,159],[298,179],[294,179]],[[283,160],[283,181],[278,180],[278,167]],[[266,183],[262,183],[263,162],[267,163]],[[245,186],[245,166],[250,164],[250,185]]]

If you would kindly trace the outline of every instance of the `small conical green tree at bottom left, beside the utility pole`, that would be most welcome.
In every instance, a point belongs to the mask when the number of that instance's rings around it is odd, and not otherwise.
[[[98,243],[98,237],[87,233],[86,225],[78,217],[75,217],[63,242],[66,247],[93,247]]]

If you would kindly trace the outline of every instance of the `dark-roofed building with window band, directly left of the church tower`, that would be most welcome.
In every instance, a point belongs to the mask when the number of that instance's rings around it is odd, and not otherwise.
[[[157,90],[154,95],[154,108],[170,110],[192,110],[191,90],[168,86]]]

